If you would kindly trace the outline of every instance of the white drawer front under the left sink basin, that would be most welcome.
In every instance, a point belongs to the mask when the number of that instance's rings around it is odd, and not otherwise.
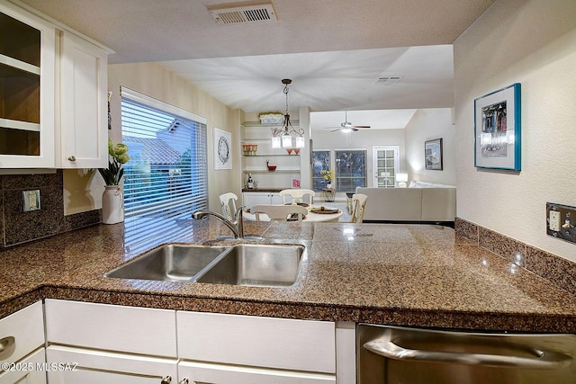
[[[51,344],[176,356],[175,311],[46,299]]]

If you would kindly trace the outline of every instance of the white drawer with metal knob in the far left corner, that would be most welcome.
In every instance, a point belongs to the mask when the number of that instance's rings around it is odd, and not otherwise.
[[[5,344],[0,362],[17,362],[44,344],[43,319],[38,301],[0,320],[0,340]]]

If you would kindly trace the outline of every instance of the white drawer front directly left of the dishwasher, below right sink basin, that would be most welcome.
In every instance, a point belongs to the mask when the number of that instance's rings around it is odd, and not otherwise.
[[[335,325],[328,321],[176,313],[181,358],[335,373]]]

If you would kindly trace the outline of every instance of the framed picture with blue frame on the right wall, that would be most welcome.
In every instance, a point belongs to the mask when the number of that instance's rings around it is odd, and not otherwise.
[[[474,166],[521,170],[520,84],[474,100]]]

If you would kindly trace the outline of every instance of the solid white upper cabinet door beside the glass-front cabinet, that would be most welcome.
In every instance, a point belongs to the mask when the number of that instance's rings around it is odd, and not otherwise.
[[[57,165],[108,165],[108,56],[89,41],[60,34],[60,105]],[[58,147],[58,145],[57,145]]]

